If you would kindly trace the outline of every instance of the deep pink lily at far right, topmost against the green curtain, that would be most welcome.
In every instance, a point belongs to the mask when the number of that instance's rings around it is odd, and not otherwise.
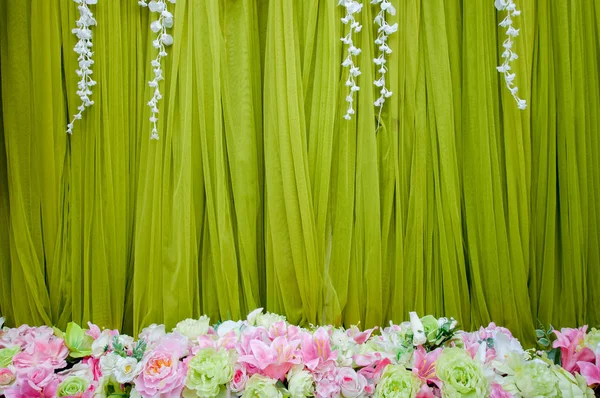
[[[560,332],[558,330],[554,331],[557,339],[552,347],[560,347],[562,367],[567,372],[579,372],[578,362],[594,361],[594,352],[582,344],[586,330],[587,326],[579,329],[563,328]]]

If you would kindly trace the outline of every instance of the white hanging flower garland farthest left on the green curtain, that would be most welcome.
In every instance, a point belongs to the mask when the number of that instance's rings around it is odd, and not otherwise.
[[[79,54],[77,61],[79,62],[79,69],[76,73],[81,79],[77,83],[77,95],[81,98],[81,105],[77,107],[79,111],[73,116],[71,123],[67,124],[67,133],[73,133],[73,125],[75,120],[80,120],[83,116],[85,108],[94,105],[94,101],[90,99],[92,95],[92,87],[96,85],[96,81],[92,79],[92,65],[94,60],[92,56],[92,29],[91,27],[96,25],[96,19],[94,14],[89,9],[89,5],[96,4],[98,0],[73,0],[79,4],[79,19],[77,20],[77,27],[73,29],[73,34],[77,36],[79,41],[75,44],[73,51]]]

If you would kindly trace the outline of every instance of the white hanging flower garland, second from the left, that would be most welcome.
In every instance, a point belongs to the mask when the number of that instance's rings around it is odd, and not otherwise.
[[[175,1],[169,0],[173,4],[175,4]],[[159,82],[164,80],[161,60],[167,56],[166,47],[173,44],[173,36],[167,33],[167,29],[173,27],[173,14],[167,9],[165,0],[152,0],[149,3],[146,0],[139,0],[138,4],[142,7],[148,7],[151,12],[159,14],[158,20],[152,22],[150,25],[152,32],[157,34],[156,39],[152,41],[152,45],[158,50],[158,55],[152,60],[154,79],[148,82],[148,85],[154,89],[154,95],[148,102],[148,106],[152,110],[152,116],[150,116],[152,136],[150,136],[150,139],[158,140],[158,128],[156,127],[156,123],[158,122],[158,101],[162,99]]]

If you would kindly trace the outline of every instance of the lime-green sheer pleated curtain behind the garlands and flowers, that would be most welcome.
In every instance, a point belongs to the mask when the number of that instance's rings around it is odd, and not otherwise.
[[[367,0],[344,120],[333,0],[177,0],[151,141],[148,9],[93,7],[95,105],[66,124],[69,0],[0,0],[0,311],[137,333],[259,306],[307,324],[600,323],[600,3],[394,0],[377,129]]]

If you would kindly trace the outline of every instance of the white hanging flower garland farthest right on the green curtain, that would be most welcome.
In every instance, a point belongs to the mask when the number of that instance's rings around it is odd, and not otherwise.
[[[498,11],[506,10],[506,17],[500,22],[500,26],[502,26],[506,30],[506,40],[502,43],[504,47],[504,52],[502,53],[502,58],[504,58],[504,62],[502,65],[498,66],[498,72],[504,75],[504,81],[506,83],[506,87],[512,94],[513,98],[517,102],[517,106],[519,109],[523,110],[527,108],[527,101],[521,99],[517,96],[517,92],[519,88],[515,86],[514,80],[516,75],[511,73],[510,64],[519,58],[519,56],[512,50],[512,46],[514,44],[514,38],[519,36],[519,29],[513,28],[513,17],[518,17],[521,15],[521,11],[517,10],[517,6],[513,0],[496,0],[495,6]]]

